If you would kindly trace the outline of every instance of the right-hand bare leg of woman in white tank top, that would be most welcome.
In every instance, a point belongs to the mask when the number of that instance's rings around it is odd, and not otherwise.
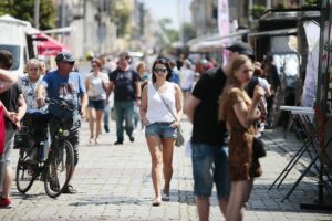
[[[173,175],[173,150],[174,150],[174,144],[175,139],[162,139],[163,144],[163,172],[164,172],[164,179],[165,179],[165,186],[164,186],[164,192],[166,194],[169,194],[169,186]]]

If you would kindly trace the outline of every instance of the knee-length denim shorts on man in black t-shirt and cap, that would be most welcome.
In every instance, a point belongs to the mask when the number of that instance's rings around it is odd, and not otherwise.
[[[230,192],[228,147],[191,144],[194,193],[210,197],[214,182],[218,199],[228,199]]]

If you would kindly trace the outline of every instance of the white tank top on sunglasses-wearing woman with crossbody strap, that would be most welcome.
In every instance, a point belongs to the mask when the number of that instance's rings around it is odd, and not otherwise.
[[[162,93],[163,99],[170,107],[172,112],[176,115],[176,99],[174,84],[167,82],[167,90]],[[163,103],[160,95],[156,92],[152,82],[147,86],[147,112],[146,118],[149,124],[156,122],[175,122],[174,116],[169,113]]]

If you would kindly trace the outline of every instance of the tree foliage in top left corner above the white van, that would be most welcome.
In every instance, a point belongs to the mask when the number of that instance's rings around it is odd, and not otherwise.
[[[34,0],[1,0],[0,15],[10,14],[17,19],[33,23]],[[53,0],[40,1],[40,29],[55,28],[56,9]]]

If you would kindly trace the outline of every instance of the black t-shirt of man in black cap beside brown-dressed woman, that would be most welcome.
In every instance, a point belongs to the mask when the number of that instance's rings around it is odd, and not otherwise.
[[[227,144],[228,133],[224,122],[218,120],[219,97],[226,75],[221,67],[203,74],[193,96],[200,99],[195,109],[191,143],[221,146]]]

